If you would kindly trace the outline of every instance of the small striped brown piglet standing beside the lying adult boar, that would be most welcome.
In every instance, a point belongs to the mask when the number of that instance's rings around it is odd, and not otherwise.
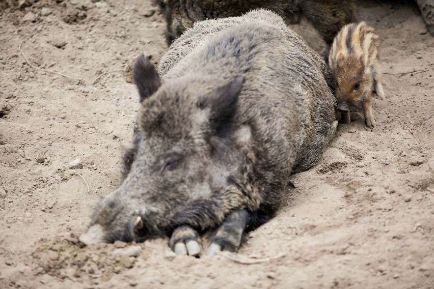
[[[349,124],[349,107],[362,104],[366,126],[375,127],[372,92],[385,100],[380,48],[374,28],[364,21],[345,25],[330,49],[329,66],[335,79],[337,110]]]

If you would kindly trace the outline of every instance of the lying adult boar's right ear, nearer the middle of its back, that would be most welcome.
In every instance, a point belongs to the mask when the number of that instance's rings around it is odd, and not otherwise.
[[[230,133],[243,83],[244,77],[237,77],[231,83],[211,92],[205,99],[202,108],[210,108],[209,126],[214,136],[224,138]]]

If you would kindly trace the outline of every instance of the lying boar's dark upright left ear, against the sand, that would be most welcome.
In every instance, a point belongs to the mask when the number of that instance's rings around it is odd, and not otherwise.
[[[149,57],[143,54],[135,61],[133,78],[139,90],[140,102],[154,94],[161,86],[161,79]]]

